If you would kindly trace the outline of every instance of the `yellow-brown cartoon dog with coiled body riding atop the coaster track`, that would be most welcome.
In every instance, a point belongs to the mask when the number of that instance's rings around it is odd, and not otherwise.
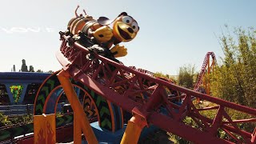
[[[100,17],[96,21],[89,15],[76,15],[77,17],[72,18],[68,23],[70,33],[80,36],[82,34],[90,38],[94,44],[109,49],[114,58],[126,56],[127,49],[119,46],[119,43],[130,42],[139,30],[136,20],[126,12],[122,12],[114,20]],[[110,27],[110,24],[113,24],[113,27]]]

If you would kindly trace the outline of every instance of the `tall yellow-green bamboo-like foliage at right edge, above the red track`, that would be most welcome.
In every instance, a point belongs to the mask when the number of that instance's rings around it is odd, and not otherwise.
[[[225,54],[211,77],[211,93],[244,106],[256,108],[256,31],[235,29],[222,35]]]

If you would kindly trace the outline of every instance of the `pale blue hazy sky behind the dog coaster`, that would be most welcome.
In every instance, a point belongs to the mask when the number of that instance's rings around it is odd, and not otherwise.
[[[8,0],[0,5],[0,71],[13,65],[21,69],[22,59],[35,70],[59,70],[55,58],[60,46],[58,31],[66,30],[80,5],[98,18],[115,18],[122,11],[134,17],[140,30],[131,42],[122,43],[128,55],[119,58],[126,66],[152,72],[178,74],[178,68],[192,64],[200,70],[208,51],[222,56],[218,43],[224,25],[255,26],[256,1],[146,1],[146,0]],[[225,31],[224,31],[225,32]]]

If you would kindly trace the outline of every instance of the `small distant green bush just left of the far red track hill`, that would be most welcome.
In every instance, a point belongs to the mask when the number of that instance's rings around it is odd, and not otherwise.
[[[178,85],[193,89],[197,75],[194,66],[187,65],[180,67],[178,73]]]

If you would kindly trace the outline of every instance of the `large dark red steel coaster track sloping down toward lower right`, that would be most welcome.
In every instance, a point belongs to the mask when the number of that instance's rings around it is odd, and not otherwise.
[[[153,124],[195,143],[256,142],[256,129],[246,131],[239,126],[246,122],[256,122],[255,109],[154,78],[91,52],[64,34],[61,34],[61,40],[62,45],[56,57],[62,65],[62,70],[70,74],[75,81],[82,82],[95,93],[120,106],[122,110],[140,115],[146,119],[148,125]],[[88,59],[87,54],[93,54],[94,58]],[[205,70],[202,74],[204,72]],[[170,101],[166,89],[180,91],[182,95],[171,99],[182,98],[182,104],[177,105]],[[200,108],[194,104],[192,97],[213,105]],[[230,110],[250,115],[250,118],[232,119]],[[209,118],[204,113],[207,111],[214,111],[214,118]],[[185,118],[193,119],[197,126],[186,124],[183,122]],[[226,139],[218,137],[219,131],[227,135]]]

